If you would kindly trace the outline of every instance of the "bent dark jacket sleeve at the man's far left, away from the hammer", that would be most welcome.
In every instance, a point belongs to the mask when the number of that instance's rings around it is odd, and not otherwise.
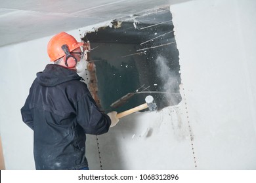
[[[22,114],[22,120],[23,122],[28,125],[31,129],[33,129],[33,116],[32,112],[30,110],[30,95],[28,95],[28,98],[26,99],[24,107],[20,109],[20,112]]]

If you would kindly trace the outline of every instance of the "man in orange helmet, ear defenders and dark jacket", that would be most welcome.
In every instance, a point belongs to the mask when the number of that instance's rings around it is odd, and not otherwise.
[[[116,111],[104,114],[77,73],[86,67],[83,42],[58,33],[47,52],[54,64],[37,73],[22,120],[33,129],[35,169],[89,169],[85,134],[101,135],[119,122]]]

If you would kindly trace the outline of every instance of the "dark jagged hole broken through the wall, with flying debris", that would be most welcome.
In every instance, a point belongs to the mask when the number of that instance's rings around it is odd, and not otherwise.
[[[181,102],[179,50],[169,8],[144,12],[86,33],[102,110],[121,112],[152,95],[158,109]]]

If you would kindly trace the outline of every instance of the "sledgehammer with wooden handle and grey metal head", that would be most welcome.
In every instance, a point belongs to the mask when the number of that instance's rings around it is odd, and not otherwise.
[[[131,108],[129,110],[125,110],[123,112],[120,112],[117,114],[117,118],[123,118],[124,116],[127,116],[129,114],[132,114],[133,112],[137,112],[139,110],[143,110],[145,108],[148,108],[151,111],[156,110],[158,107],[156,106],[156,103],[154,101],[154,98],[151,95],[146,96],[145,98],[146,103],[139,105],[137,107]]]

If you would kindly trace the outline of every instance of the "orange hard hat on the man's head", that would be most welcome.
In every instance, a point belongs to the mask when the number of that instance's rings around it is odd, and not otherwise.
[[[56,61],[57,59],[65,56],[65,52],[61,48],[64,44],[66,44],[68,46],[68,50],[72,52],[75,48],[82,46],[83,42],[77,42],[72,35],[65,32],[54,35],[47,45],[47,53],[51,61]]]

